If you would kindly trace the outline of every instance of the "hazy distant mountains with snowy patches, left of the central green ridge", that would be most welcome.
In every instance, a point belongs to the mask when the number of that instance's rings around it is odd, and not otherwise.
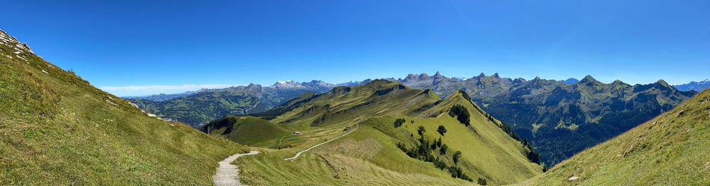
[[[148,99],[129,100],[165,120],[184,122],[199,128],[226,115],[264,112],[302,93],[324,93],[334,87],[336,85],[315,80],[303,83],[279,81],[266,87],[252,83],[249,86],[202,89],[182,95],[151,95]],[[167,98],[169,96],[175,98]]]

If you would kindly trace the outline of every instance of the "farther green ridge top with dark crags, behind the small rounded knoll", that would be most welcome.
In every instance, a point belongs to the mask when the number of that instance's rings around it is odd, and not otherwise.
[[[314,95],[307,103],[291,108],[272,122],[332,127],[354,124],[369,117],[415,115],[435,105],[436,93],[408,88],[386,80],[362,86],[341,86]]]

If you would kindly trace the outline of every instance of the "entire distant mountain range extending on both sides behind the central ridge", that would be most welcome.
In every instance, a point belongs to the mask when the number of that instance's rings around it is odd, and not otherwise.
[[[581,81],[535,78],[508,79],[497,73],[471,78],[447,78],[437,73],[409,74],[404,79],[384,79],[405,86],[430,89],[441,98],[463,90],[484,110],[509,124],[540,151],[542,161],[554,165],[672,109],[694,95],[678,91],[665,81],[628,85],[622,81],[601,83],[591,76]],[[323,81],[280,81],[259,88],[256,84],[204,89],[185,98],[165,101],[129,99],[143,110],[168,120],[199,128],[226,115],[264,112],[306,92],[324,93],[337,86],[355,86],[372,80],[334,85]],[[623,119],[623,120],[622,120]],[[570,143],[569,141],[572,141]]]

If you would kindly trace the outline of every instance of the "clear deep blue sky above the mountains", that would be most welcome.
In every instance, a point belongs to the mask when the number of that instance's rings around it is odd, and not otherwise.
[[[3,1],[2,6],[0,29],[49,62],[121,96],[435,71],[525,79],[591,74],[606,83],[631,84],[710,78],[710,1]]]

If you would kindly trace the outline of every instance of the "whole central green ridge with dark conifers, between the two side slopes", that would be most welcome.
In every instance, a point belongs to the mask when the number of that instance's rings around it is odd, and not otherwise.
[[[249,170],[241,178],[254,185],[498,185],[542,173],[531,156],[537,153],[506,129],[464,92],[442,100],[433,91],[380,79],[305,93],[268,112],[215,120],[202,132],[278,149],[237,163]]]

